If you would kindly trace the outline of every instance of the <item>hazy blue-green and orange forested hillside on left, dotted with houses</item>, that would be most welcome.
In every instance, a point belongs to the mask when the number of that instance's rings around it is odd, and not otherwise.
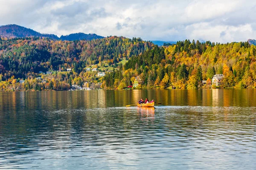
[[[38,37],[2,39],[0,40],[0,80],[7,84],[2,84],[0,90],[4,89],[3,86],[9,87],[14,79],[16,79],[15,83],[20,79],[34,79],[41,76],[40,72],[47,71],[56,73],[51,76],[44,75],[47,82],[53,78],[69,85],[76,84],[77,78],[79,85],[89,79],[90,82],[100,82],[91,77],[95,76],[95,73],[86,73],[85,68],[88,65],[95,68],[103,65],[102,69],[105,68],[104,64],[112,68],[117,67],[122,63],[121,60],[143,54],[152,47],[151,42],[125,37],[107,37],[91,41],[57,41]],[[67,68],[72,68],[72,73],[67,72]],[[28,86],[26,90],[30,87]],[[17,89],[22,88],[19,85]],[[62,87],[52,89],[60,90]]]

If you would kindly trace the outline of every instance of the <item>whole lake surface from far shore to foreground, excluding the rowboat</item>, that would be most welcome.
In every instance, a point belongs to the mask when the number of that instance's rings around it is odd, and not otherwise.
[[[140,97],[155,108],[137,108]],[[0,93],[0,169],[256,168],[256,90]]]

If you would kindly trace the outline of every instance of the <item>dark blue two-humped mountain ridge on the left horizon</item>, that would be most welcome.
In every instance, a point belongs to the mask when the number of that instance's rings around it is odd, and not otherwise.
[[[48,37],[54,40],[93,40],[104,38],[102,36],[96,34],[84,34],[84,33],[75,33],[69,35],[61,35],[59,38],[55,34],[41,34],[37,31],[34,31],[30,28],[26,28],[23,26],[18,26],[15,24],[0,26],[0,37],[4,38],[23,38],[23,37]]]

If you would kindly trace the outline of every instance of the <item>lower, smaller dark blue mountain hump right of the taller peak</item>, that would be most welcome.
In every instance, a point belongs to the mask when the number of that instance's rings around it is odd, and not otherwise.
[[[73,41],[73,40],[93,40],[93,39],[100,39],[104,38],[102,36],[99,36],[97,34],[84,34],[84,33],[75,33],[75,34],[69,34],[69,35],[61,35],[60,39],[61,40],[68,40],[68,41]]]

